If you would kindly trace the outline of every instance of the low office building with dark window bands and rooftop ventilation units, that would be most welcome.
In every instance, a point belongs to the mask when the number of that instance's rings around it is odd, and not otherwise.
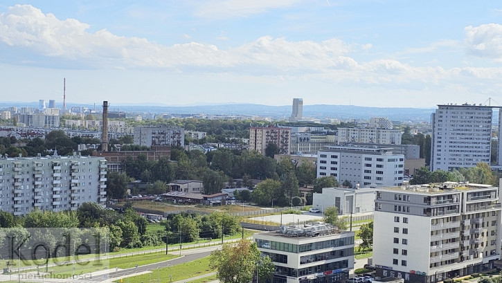
[[[276,266],[274,283],[344,282],[354,268],[355,232],[325,223],[282,226],[253,235],[258,250]]]

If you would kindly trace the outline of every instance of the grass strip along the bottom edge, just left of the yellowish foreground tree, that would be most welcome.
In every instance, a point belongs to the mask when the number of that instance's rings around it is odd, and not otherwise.
[[[213,270],[210,270],[209,268],[209,257],[204,257],[203,259],[197,259],[193,262],[186,262],[184,264],[177,264],[175,266],[159,268],[158,271],[153,270],[151,274],[129,277],[128,281],[130,283],[149,282],[150,278],[156,280],[156,278],[159,277],[161,282],[167,283],[171,282],[171,277],[172,282],[176,282],[210,272],[213,272]],[[114,282],[120,282],[120,280],[115,280]]]

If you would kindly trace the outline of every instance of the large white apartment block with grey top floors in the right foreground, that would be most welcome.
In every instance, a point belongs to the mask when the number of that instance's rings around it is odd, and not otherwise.
[[[501,253],[499,194],[453,182],[377,190],[377,276],[433,283],[493,268]]]

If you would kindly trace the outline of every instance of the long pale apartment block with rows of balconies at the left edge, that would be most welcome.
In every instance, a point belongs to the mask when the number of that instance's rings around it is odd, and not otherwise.
[[[0,210],[76,210],[85,202],[106,204],[105,158],[84,156],[0,159]]]

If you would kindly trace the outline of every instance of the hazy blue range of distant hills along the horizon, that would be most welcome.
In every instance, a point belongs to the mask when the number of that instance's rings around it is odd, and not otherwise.
[[[38,107],[38,102],[1,102],[3,107]],[[56,107],[62,107],[57,103]],[[75,104],[67,103],[66,107],[89,107],[100,111],[100,104]],[[130,104],[115,104],[111,102],[109,111],[125,111],[136,113],[181,113],[181,114],[212,114],[212,115],[244,115],[262,116],[275,119],[287,119],[291,116],[292,105],[269,106],[262,104],[220,104],[198,106],[145,106]],[[429,121],[435,109],[420,108],[379,108],[361,107],[353,105],[303,105],[303,116],[310,118],[335,118],[335,119],[368,119],[375,116],[387,117],[400,121]]]

